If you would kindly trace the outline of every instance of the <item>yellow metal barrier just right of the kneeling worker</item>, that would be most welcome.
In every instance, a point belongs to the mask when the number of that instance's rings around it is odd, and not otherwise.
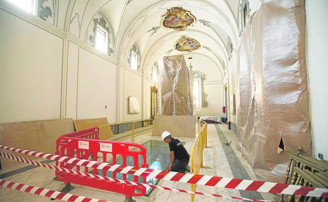
[[[210,168],[203,166],[203,151],[207,147],[207,123],[198,120],[198,135],[190,150],[190,173],[199,174],[200,168]],[[191,184],[191,191],[196,191],[196,184]],[[195,194],[191,194],[190,201],[194,201]]]

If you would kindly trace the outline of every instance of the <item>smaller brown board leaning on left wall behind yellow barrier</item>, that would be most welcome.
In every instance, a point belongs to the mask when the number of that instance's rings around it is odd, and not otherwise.
[[[76,131],[84,130],[87,128],[100,127],[102,125],[108,125],[106,117],[97,119],[79,119],[73,120]],[[111,127],[102,127],[99,131],[99,139],[107,140],[113,138],[113,132]]]

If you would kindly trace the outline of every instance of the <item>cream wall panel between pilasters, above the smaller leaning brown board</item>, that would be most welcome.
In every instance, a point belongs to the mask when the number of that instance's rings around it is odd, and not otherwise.
[[[117,65],[80,48],[77,119],[107,117],[109,123],[116,122],[116,68]]]

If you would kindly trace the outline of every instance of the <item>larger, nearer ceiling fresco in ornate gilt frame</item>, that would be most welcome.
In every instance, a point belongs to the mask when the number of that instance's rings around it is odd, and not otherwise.
[[[182,9],[182,7],[174,7],[167,10],[168,12],[162,15],[160,22],[163,28],[183,30],[196,23],[195,16],[190,11]]]

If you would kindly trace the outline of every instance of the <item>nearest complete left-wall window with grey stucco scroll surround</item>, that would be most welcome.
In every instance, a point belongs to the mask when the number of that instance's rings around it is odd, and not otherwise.
[[[111,29],[107,27],[108,21],[101,16],[100,19],[95,18],[93,27],[93,36],[90,35],[89,39],[92,42],[92,46],[100,50],[101,52],[111,55],[113,51],[113,39]],[[109,23],[108,23],[109,24]]]

